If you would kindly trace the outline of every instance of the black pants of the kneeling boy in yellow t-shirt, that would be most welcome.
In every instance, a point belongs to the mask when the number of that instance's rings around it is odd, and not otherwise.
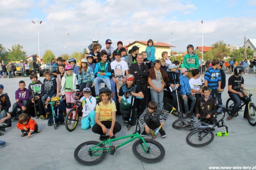
[[[101,123],[107,128],[110,129],[111,128],[111,123],[112,121],[101,121]],[[121,125],[120,123],[116,122],[114,129],[113,129],[113,134],[115,135],[117,132],[119,132],[121,130]],[[102,128],[100,125],[98,125],[97,123],[95,123],[92,127],[92,132],[94,133],[98,133],[100,135],[106,135],[105,133],[103,133]]]

